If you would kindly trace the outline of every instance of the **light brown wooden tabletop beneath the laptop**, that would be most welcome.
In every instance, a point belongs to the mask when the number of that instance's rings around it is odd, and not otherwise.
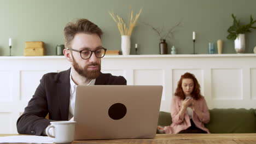
[[[9,136],[1,134],[0,136]],[[157,134],[154,139],[121,139],[121,140],[79,140],[72,143],[218,143],[218,144],[254,144],[256,134]]]

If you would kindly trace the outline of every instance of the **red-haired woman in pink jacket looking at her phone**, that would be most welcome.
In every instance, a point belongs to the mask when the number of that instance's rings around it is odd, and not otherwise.
[[[158,126],[160,133],[210,133],[204,125],[210,122],[210,113],[193,74],[181,76],[172,98],[171,116],[170,126]]]

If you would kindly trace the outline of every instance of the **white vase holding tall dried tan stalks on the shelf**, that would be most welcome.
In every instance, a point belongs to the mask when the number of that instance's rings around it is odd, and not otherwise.
[[[115,15],[114,13],[109,13],[112,19],[117,23],[119,32],[121,34],[121,50],[123,55],[129,55],[131,49],[131,34],[133,28],[136,26],[136,22],[141,15],[142,9],[139,10],[139,13],[133,17],[133,10],[131,10],[130,17],[129,17],[129,24],[126,25],[125,21],[119,15]]]

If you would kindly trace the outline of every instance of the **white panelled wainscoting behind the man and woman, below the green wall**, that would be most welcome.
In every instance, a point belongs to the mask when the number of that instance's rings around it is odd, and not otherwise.
[[[42,75],[66,70],[70,64],[63,56],[43,56],[0,57],[0,65],[0,134],[17,133],[16,120]],[[162,85],[161,111],[170,111],[177,82],[187,71],[196,76],[210,109],[256,108],[255,54],[102,58],[102,72],[124,76],[127,85]]]

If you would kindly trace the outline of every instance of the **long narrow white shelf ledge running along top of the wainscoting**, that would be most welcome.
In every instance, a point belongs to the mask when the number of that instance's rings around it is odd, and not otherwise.
[[[106,55],[103,58],[185,58],[185,57],[256,57],[255,53],[245,54],[198,54],[198,55]],[[65,59],[65,56],[0,56],[0,59]]]

